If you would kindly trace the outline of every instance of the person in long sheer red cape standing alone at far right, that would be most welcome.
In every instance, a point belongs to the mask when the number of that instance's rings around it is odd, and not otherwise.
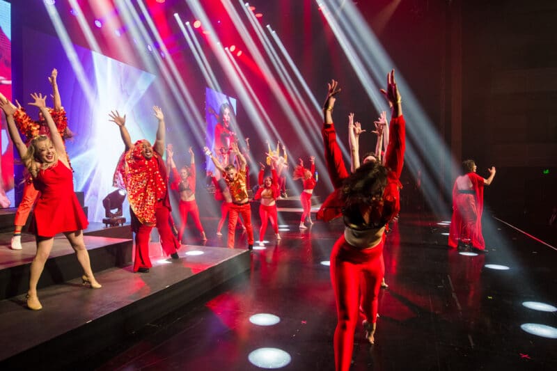
[[[457,177],[453,187],[453,218],[450,220],[448,246],[457,247],[462,242],[483,253],[483,187],[492,184],[496,170],[495,166],[488,168],[489,177],[484,179],[476,174],[478,166],[474,160],[463,161],[462,168],[465,174]]]

